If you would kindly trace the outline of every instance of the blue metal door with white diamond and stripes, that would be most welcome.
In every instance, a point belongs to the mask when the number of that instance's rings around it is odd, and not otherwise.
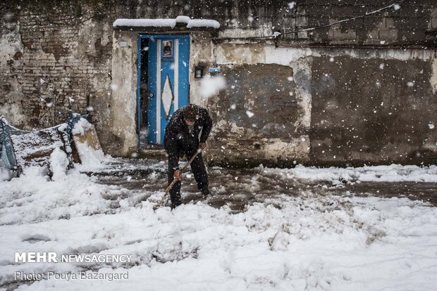
[[[148,35],[147,143],[163,144],[173,112],[188,104],[190,37]]]

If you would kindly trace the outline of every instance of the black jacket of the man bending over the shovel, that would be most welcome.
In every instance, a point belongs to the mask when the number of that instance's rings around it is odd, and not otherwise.
[[[207,141],[212,128],[212,119],[205,108],[199,107],[193,134],[188,131],[188,126],[183,118],[183,108],[176,110],[168,122],[164,134],[164,148],[168,154],[168,167],[178,169],[179,157],[192,153],[199,148],[199,143]],[[202,135],[199,138],[200,131]],[[191,157],[187,157],[190,159]]]

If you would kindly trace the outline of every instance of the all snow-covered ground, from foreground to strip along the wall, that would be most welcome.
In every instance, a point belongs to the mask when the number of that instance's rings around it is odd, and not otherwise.
[[[105,157],[93,171],[110,172]],[[242,212],[214,200],[154,211],[159,190],[103,184],[76,165],[50,181],[39,168],[0,182],[0,286],[18,290],[436,290],[437,208],[407,198],[342,192],[348,183],[436,183],[437,167],[227,169],[218,195],[256,198]],[[116,171],[131,170],[130,166]],[[149,183],[165,181],[165,163],[147,164]],[[55,169],[55,171],[58,171]],[[192,175],[191,175],[192,176]],[[161,177],[161,178],[159,178]],[[237,179],[235,179],[237,178]],[[111,178],[109,178],[111,179]],[[190,174],[185,181],[192,180]],[[130,178],[128,179],[130,180]],[[281,183],[269,189],[268,183]],[[328,182],[340,195],[301,187]],[[290,184],[288,184],[288,182]],[[187,183],[183,186],[186,192]],[[161,185],[156,186],[156,189]],[[184,190],[185,189],[185,190]],[[437,194],[437,193],[436,193]],[[187,195],[187,193],[185,193]],[[128,263],[15,263],[15,252],[130,254]],[[23,281],[16,272],[128,273],[127,280]],[[0,287],[1,288],[1,287]]]

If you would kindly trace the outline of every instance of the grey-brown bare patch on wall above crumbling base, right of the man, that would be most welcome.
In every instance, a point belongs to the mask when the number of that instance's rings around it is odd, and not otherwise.
[[[228,89],[224,96],[209,101],[213,112],[220,112],[220,117],[238,127],[254,127],[263,137],[276,138],[295,132],[300,108],[291,67],[239,65],[224,68],[223,75]]]

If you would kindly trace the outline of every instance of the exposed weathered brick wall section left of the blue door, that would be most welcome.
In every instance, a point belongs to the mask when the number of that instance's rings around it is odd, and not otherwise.
[[[22,47],[10,60],[15,65],[9,67],[4,78],[16,76],[23,96],[21,105],[27,119],[25,124],[17,125],[50,127],[66,120],[68,108],[85,113],[87,103],[88,109],[98,104],[110,82],[111,25],[106,24],[104,32],[104,24],[81,14],[78,9],[82,7],[73,4],[12,8],[13,18],[8,25],[18,27],[16,37]],[[13,119],[8,112],[1,113]]]

